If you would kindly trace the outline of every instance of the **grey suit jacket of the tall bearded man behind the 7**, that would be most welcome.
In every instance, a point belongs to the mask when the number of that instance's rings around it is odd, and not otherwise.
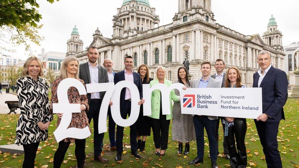
[[[107,69],[98,65],[99,67],[99,83],[109,83],[108,72]],[[79,78],[84,81],[85,84],[90,84],[90,73],[89,73],[89,65],[88,62],[81,64],[79,68]],[[103,100],[105,92],[100,92],[100,98]],[[88,103],[90,102],[91,94],[87,93]]]

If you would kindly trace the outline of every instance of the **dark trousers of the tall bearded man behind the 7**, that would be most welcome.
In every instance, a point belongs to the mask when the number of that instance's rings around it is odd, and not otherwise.
[[[95,157],[101,155],[103,148],[104,133],[99,134],[98,129],[101,104],[102,101],[100,99],[96,102],[91,99],[91,101],[89,102],[89,111],[87,112],[89,124],[91,122],[91,119],[93,119],[93,149]]]

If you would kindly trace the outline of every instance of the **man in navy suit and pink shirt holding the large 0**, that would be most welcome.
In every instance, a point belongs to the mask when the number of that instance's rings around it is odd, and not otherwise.
[[[133,58],[132,56],[125,57],[125,69],[114,75],[114,84],[117,84],[119,81],[128,80],[134,82],[137,86],[140,96],[140,101],[138,105],[144,103],[142,99],[142,82],[139,73],[133,72]],[[123,88],[120,92],[120,115],[123,119],[127,118],[127,115],[130,116],[131,113],[131,92],[128,88]],[[130,144],[131,144],[131,154],[135,158],[141,158],[141,155],[137,152],[137,124],[136,122],[130,126]],[[115,157],[116,161],[121,160],[121,155],[123,153],[123,127],[117,125],[116,127],[116,151],[117,155]]]

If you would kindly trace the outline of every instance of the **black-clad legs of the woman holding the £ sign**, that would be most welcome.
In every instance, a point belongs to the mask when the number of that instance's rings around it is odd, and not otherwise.
[[[78,168],[83,168],[85,161],[85,139],[75,140],[75,145],[75,156],[77,159]],[[70,142],[64,142],[64,140],[59,142],[57,151],[54,155],[54,168],[59,168],[61,166],[69,146]]]

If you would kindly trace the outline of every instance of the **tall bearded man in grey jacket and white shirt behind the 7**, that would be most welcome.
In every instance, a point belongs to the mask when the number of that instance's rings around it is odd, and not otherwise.
[[[79,78],[82,79],[85,84],[94,83],[107,83],[109,82],[107,69],[98,65],[99,51],[96,47],[89,47],[87,50],[88,62],[81,64],[79,69]],[[89,103],[89,111],[87,118],[89,124],[93,119],[93,148],[94,148],[94,161],[102,163],[108,163],[108,159],[101,156],[103,148],[104,133],[98,131],[99,113],[102,100],[104,98],[104,92],[88,93],[87,99]]]

